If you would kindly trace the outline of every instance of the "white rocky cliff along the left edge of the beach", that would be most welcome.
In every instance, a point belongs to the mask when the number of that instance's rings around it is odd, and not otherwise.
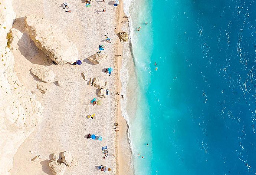
[[[1,1],[0,14],[0,175],[9,175],[17,149],[41,122],[43,107],[19,82],[13,53],[6,47],[15,18],[11,0]]]

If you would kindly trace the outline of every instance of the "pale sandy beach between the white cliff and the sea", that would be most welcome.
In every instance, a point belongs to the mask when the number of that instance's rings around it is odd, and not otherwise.
[[[14,156],[12,175],[51,175],[48,165],[52,160],[52,153],[63,151],[72,152],[78,159],[78,166],[67,168],[65,174],[102,174],[98,165],[111,168],[109,174],[129,173],[131,151],[127,141],[127,124],[121,116],[120,92],[121,82],[119,70],[122,61],[122,44],[118,33],[127,20],[124,17],[122,1],[114,7],[114,1],[95,1],[86,8],[84,1],[67,1],[71,13],[62,9],[63,1],[36,0],[13,1],[13,9],[17,19],[13,28],[23,33],[19,42],[13,43],[15,65],[14,70],[20,82],[37,95],[45,110],[42,123],[27,138]],[[103,13],[105,9],[105,13]],[[29,39],[24,26],[24,17],[35,15],[51,20],[75,43],[79,51],[82,65],[72,66],[53,65],[47,60],[45,53],[38,49]],[[105,43],[105,35],[111,38],[111,43]],[[93,65],[88,61],[89,56],[98,52],[98,46],[104,45],[110,59]],[[46,65],[55,73],[55,82],[48,83],[50,92],[46,95],[39,92],[36,83],[39,81],[33,76],[30,69],[35,65]],[[109,76],[104,70],[113,67],[114,73]],[[87,80],[83,80],[81,73],[88,71]],[[97,97],[97,89],[89,86],[90,77],[99,77],[108,81],[109,95],[102,99],[102,105],[92,106],[90,101]],[[65,82],[59,87],[56,81]],[[86,116],[95,113],[96,119],[87,119]],[[114,123],[121,125],[120,131],[115,132]],[[102,141],[86,139],[91,133],[103,137]],[[108,146],[108,156],[103,159],[101,147]],[[33,153],[30,153],[32,151]],[[32,162],[36,155],[41,155],[39,162]]]

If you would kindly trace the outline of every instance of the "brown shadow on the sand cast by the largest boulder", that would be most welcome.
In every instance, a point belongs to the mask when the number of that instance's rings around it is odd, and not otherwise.
[[[46,66],[51,65],[45,53],[36,46],[33,40],[30,39],[24,19],[24,17],[16,18],[12,26],[22,33],[22,37],[17,43],[20,53],[33,64]]]

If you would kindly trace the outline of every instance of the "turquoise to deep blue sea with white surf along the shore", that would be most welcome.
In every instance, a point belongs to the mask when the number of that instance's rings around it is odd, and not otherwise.
[[[135,175],[255,175],[256,1],[124,5],[138,83],[127,118]]]

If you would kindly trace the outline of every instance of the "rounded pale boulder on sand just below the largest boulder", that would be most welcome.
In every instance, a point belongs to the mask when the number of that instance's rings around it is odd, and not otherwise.
[[[36,66],[31,69],[31,72],[43,82],[53,82],[55,74],[49,70],[47,66]]]

